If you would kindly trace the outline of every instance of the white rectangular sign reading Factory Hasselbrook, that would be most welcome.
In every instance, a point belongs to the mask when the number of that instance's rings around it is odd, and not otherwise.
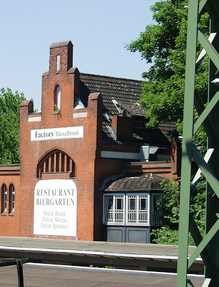
[[[68,126],[66,128],[42,128],[40,130],[31,130],[31,141],[80,138],[83,138],[83,126]]]

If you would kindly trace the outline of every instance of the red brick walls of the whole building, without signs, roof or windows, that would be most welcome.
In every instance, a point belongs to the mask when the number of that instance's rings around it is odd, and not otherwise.
[[[139,154],[140,146],[110,144],[102,142],[103,99],[101,94],[88,96],[88,107],[74,109],[75,97],[79,93],[79,70],[72,67],[73,45],[70,41],[51,44],[49,71],[42,74],[42,111],[34,113],[31,100],[21,102],[20,159],[21,168],[0,168],[0,182],[15,187],[14,214],[8,211],[0,216],[0,235],[36,236],[71,240],[103,240],[103,199],[100,187],[110,176],[124,172],[156,172],[169,174],[171,167],[177,171],[179,165],[173,148],[173,165],[143,167],[129,165],[125,159],[101,158],[101,151],[129,152]],[[56,89],[60,86],[60,109],[55,109]],[[114,116],[112,125],[118,139],[127,139],[133,133],[133,118]],[[83,137],[71,139],[31,140],[32,130],[83,126]],[[58,151],[75,163],[75,174],[47,170],[52,159],[50,154]],[[60,159],[62,156],[60,157]],[[47,163],[47,159],[49,163]],[[56,157],[54,162],[56,162]],[[43,164],[43,165],[42,165]],[[42,165],[42,167],[41,167]],[[54,165],[55,166],[55,165]],[[38,170],[41,172],[38,172]],[[138,170],[139,169],[139,170]],[[41,176],[42,174],[42,176]],[[77,236],[34,235],[34,189],[40,180],[71,179],[77,187]],[[1,199],[0,199],[1,201]],[[1,204],[1,202],[0,202]]]

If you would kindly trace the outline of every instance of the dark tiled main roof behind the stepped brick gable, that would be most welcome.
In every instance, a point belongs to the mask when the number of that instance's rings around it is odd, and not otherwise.
[[[80,98],[88,106],[90,93],[101,92],[103,97],[103,140],[115,141],[112,131],[112,115],[123,112],[144,119],[146,108],[140,107],[138,100],[142,94],[142,81],[80,74]],[[169,144],[168,132],[175,129],[174,123],[160,124],[157,129],[134,128],[133,141],[141,144]]]

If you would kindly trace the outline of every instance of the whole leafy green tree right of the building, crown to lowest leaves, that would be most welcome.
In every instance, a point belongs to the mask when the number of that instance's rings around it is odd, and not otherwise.
[[[151,63],[143,72],[144,81],[140,104],[146,107],[147,126],[157,128],[160,122],[175,122],[177,134],[182,134],[183,100],[185,83],[186,30],[188,0],[157,1],[151,6],[155,24],[146,25],[137,40],[126,44],[131,52],[139,52],[142,60]],[[204,11],[199,16],[198,28],[209,35],[209,16]],[[201,52],[197,47],[197,57]],[[207,102],[208,57],[196,72],[196,90],[204,103]],[[194,111],[194,119],[198,115]],[[176,136],[176,135],[173,135]],[[206,134],[203,127],[194,135],[194,144],[202,153],[206,150]],[[153,230],[155,243],[177,244],[179,221],[179,185],[170,182],[166,190],[165,219],[167,225]],[[205,180],[201,180],[192,196],[190,212],[201,233],[205,226]],[[193,240],[190,236],[190,245]]]

